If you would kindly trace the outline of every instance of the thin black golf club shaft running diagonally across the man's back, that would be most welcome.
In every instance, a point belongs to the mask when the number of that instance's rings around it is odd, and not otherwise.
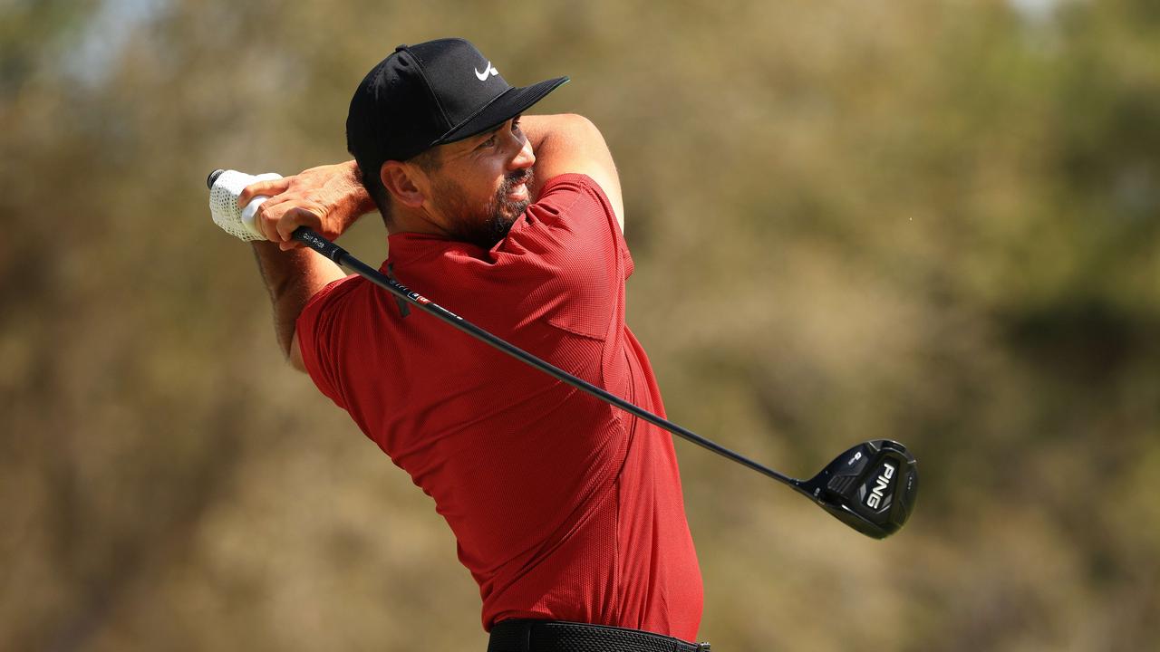
[[[564,371],[563,369],[549,362],[545,362],[514,345],[503,341],[502,339],[488,333],[487,331],[484,331],[479,326],[476,326],[474,324],[467,321],[466,319],[459,317],[458,314],[455,314],[454,312],[447,310],[445,307],[436,303],[432,303],[429,299],[421,296],[419,292],[415,292],[409,288],[407,288],[406,285],[403,285],[398,281],[394,281],[393,278],[385,276],[379,270],[368,266],[367,263],[350,255],[346,249],[327,240],[326,238],[322,238],[311,229],[307,229],[305,226],[299,226],[293,232],[293,238],[299,242],[303,242],[307,247],[314,249],[316,252],[322,254],[324,256],[331,259],[335,263],[353,270],[355,274],[358,274],[363,278],[370,281],[371,283],[375,283],[376,285],[391,292],[396,297],[407,302],[415,309],[421,310],[427,314],[430,314],[447,324],[450,324],[451,326],[455,326],[459,331],[463,331],[464,333],[478,340],[483,340],[484,342],[491,345],[492,347],[510,355],[512,357],[515,357],[516,360],[520,360],[521,362],[524,362],[525,364],[535,367],[536,369],[543,371],[544,374],[548,374],[549,376],[556,378],[557,381],[560,381],[561,383],[572,385],[573,387],[582,392],[592,394],[608,404],[619,407],[621,410],[628,412],[629,414],[632,414],[633,416],[644,419],[645,421],[648,421],[650,423],[657,426],[658,428],[664,428],[665,430],[668,430],[669,433],[683,440],[693,442],[704,449],[711,450],[717,455],[720,455],[722,457],[732,459],[733,462],[737,462],[738,464],[741,464],[744,466],[748,466],[749,469],[753,469],[754,471],[763,476],[768,476],[780,483],[784,483],[798,491],[802,491],[799,480],[778,473],[777,471],[774,471],[773,469],[763,464],[759,464],[739,452],[732,451],[713,441],[706,440],[705,437],[702,437],[701,435],[694,433],[693,430],[682,428],[681,426],[677,426],[676,423],[669,421],[668,419],[653,414],[647,410],[643,410],[614,393],[610,393],[601,387],[597,387],[596,385],[593,385],[592,383],[588,383],[587,381],[577,378],[575,376],[568,374],[567,371]]]

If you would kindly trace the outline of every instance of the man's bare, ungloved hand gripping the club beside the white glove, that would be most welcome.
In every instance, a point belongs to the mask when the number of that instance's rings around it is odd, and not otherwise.
[[[245,207],[258,196],[268,196],[254,216],[254,225],[282,251],[302,247],[291,234],[309,226],[333,240],[363,215],[375,210],[375,202],[358,180],[354,161],[324,165],[293,176],[247,186],[238,196]]]

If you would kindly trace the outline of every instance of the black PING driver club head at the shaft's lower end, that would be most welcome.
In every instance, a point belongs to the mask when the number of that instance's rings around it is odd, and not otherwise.
[[[855,530],[886,538],[914,510],[918,463],[896,441],[868,441],[839,455],[797,488]]]

